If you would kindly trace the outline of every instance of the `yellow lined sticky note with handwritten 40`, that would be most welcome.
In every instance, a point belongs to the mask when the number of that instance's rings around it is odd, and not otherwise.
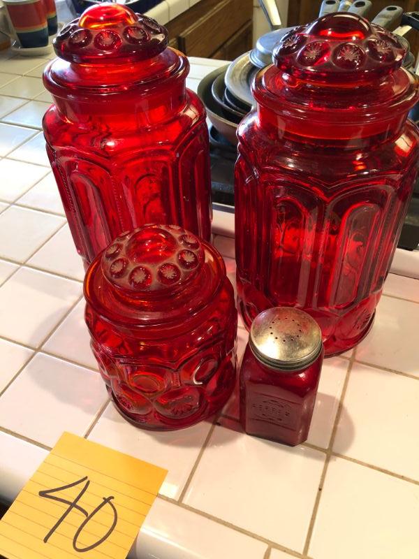
[[[64,433],[0,521],[8,559],[125,559],[167,471]]]

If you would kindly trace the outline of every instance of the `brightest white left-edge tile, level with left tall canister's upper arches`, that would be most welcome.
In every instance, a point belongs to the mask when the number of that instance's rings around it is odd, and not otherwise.
[[[14,202],[27,192],[47,173],[47,169],[38,165],[1,159],[0,161],[0,200]]]

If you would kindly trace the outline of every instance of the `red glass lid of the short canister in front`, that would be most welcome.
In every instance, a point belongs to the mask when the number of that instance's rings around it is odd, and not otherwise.
[[[226,277],[212,245],[177,225],[147,225],[119,235],[87,271],[84,293],[116,321],[142,324],[189,317]]]

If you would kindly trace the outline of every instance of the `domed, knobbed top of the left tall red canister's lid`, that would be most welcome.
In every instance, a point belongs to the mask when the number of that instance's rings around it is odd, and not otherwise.
[[[139,61],[159,55],[168,32],[156,20],[117,3],[91,6],[64,27],[54,40],[57,56],[85,64]]]

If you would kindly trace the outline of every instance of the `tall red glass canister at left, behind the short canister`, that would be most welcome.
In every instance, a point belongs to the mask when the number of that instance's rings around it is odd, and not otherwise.
[[[205,109],[189,62],[155,20],[117,3],[88,8],[54,41],[54,99],[43,128],[78,252],[88,264],[117,235],[179,224],[210,238]]]

